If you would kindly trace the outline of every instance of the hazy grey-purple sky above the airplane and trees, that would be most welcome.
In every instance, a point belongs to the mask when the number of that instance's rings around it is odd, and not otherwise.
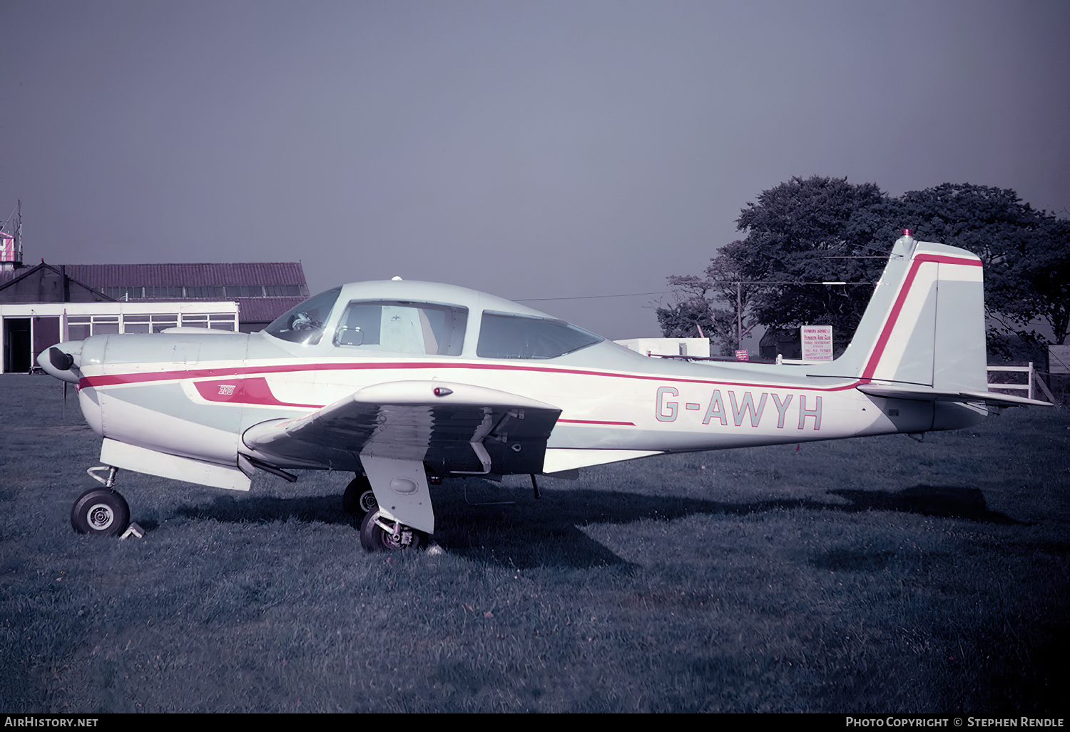
[[[1070,209],[1067,0],[3,0],[0,94],[27,262],[571,298],[701,273],[793,176]]]

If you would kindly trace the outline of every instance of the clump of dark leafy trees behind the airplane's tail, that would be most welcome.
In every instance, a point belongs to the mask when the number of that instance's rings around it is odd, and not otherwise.
[[[743,309],[751,322],[831,325],[845,345],[869,304],[867,286],[910,228],[916,239],[981,258],[994,346],[1010,337],[1046,342],[1038,323],[1065,342],[1070,329],[1070,222],[1034,210],[1011,189],[945,183],[889,197],[873,183],[793,178],[763,190],[736,226],[746,235],[721,247],[705,277],[669,277],[678,302],[663,323],[689,312],[727,339],[736,332],[736,280],[750,288]],[[822,284],[829,281],[849,285]]]

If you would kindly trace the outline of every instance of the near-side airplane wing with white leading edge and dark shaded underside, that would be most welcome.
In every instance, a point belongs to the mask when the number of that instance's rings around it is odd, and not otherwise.
[[[422,461],[461,474],[540,473],[561,410],[498,390],[395,381],[310,414],[254,425],[242,439],[262,458],[350,469],[355,456]]]

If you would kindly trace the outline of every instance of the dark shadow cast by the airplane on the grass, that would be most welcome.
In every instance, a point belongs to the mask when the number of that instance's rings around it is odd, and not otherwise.
[[[648,495],[615,490],[553,490],[535,501],[530,490],[500,487],[485,481],[444,485],[435,491],[442,522],[435,543],[445,551],[503,565],[586,568],[629,563],[591,538],[582,527],[593,523],[673,521],[696,515],[750,516],[770,510],[809,509],[861,513],[891,510],[982,523],[1021,524],[989,510],[977,488],[914,486],[898,491],[835,489],[844,502],[813,499],[765,499],[748,502]],[[185,505],[175,514],[232,523],[299,520],[360,528],[346,514],[337,494],[271,498],[220,495],[208,504]],[[148,525],[153,529],[154,525]],[[355,534],[354,534],[355,535]]]

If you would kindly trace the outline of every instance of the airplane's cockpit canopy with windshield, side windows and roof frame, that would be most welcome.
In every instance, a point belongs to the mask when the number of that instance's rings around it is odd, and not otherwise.
[[[461,288],[446,291],[469,294],[468,299],[475,302],[463,305],[362,298],[357,288],[336,287],[322,292],[282,314],[264,330],[275,338],[303,346],[331,344],[339,355],[369,351],[458,356],[464,352],[470,310],[475,310],[482,311],[475,344],[475,355],[482,359],[555,359],[602,340],[564,320],[520,306],[516,306],[518,310],[528,312],[479,307],[480,298],[498,307],[513,303]]]

